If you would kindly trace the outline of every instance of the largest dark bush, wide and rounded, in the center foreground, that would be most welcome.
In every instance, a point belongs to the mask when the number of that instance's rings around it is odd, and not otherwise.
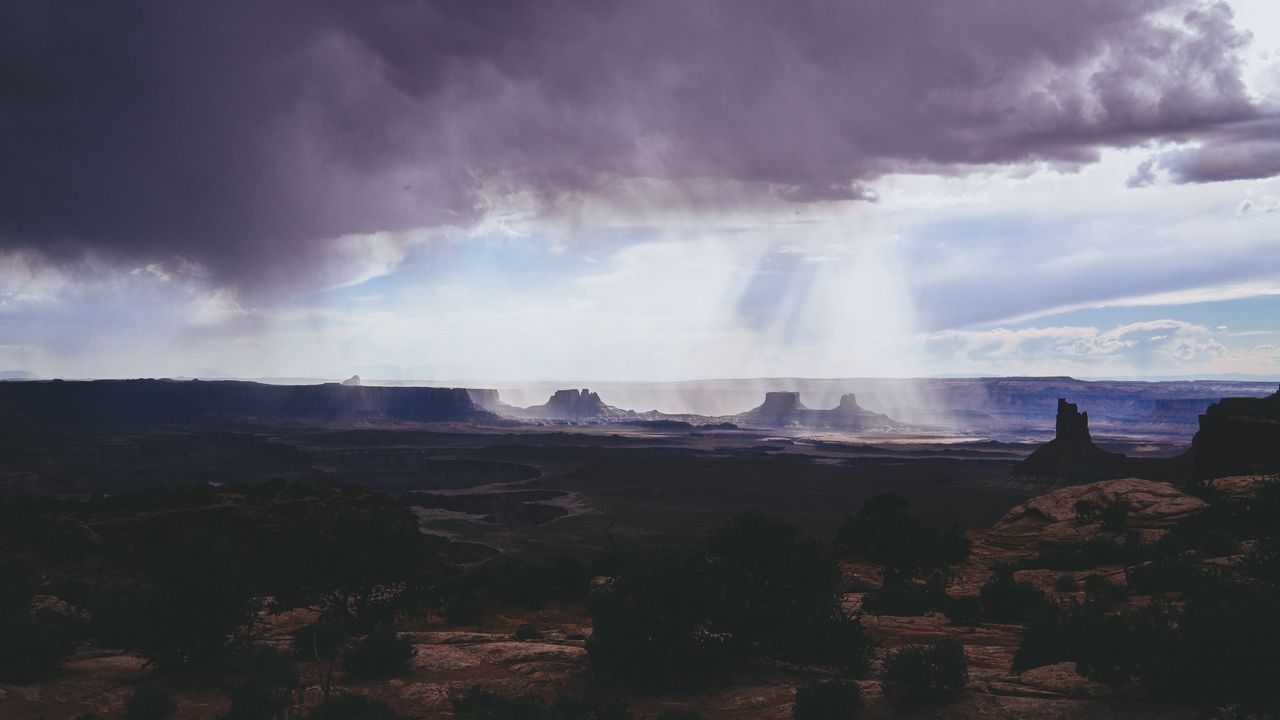
[[[799,529],[744,515],[707,548],[630,552],[591,605],[595,666],[646,687],[704,684],[735,655],[867,666],[835,559]]]

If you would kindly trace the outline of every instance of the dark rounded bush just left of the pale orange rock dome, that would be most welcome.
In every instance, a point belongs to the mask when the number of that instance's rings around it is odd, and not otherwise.
[[[947,530],[913,515],[906,498],[884,493],[868,500],[836,533],[835,546],[878,562],[884,578],[915,578],[969,557],[970,543],[956,527]]]

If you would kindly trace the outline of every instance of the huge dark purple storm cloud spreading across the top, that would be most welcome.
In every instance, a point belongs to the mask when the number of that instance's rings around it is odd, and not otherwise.
[[[264,291],[305,287],[324,238],[465,225],[507,192],[710,179],[800,202],[1089,161],[1254,117],[1244,41],[1183,0],[10,0],[0,242]]]

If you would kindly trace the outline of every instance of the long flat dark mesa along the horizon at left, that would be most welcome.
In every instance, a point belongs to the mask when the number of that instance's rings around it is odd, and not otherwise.
[[[467,391],[238,380],[0,383],[0,425],[502,423]]]

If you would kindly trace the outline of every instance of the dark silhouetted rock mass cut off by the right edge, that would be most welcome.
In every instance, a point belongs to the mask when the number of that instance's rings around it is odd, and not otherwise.
[[[1199,480],[1280,471],[1280,391],[1210,405],[1199,416],[1192,455]]]

